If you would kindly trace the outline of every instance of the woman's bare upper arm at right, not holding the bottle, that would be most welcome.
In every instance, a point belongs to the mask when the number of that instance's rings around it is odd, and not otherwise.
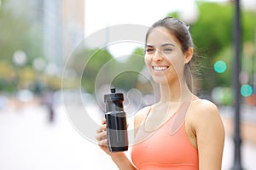
[[[201,100],[195,108],[195,135],[200,170],[220,170],[224,149],[224,126],[218,108]]]

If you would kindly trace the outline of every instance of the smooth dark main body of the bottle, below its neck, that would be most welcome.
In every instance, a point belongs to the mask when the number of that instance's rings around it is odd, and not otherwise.
[[[105,114],[107,122],[108,148],[111,152],[128,150],[128,133],[124,111]]]

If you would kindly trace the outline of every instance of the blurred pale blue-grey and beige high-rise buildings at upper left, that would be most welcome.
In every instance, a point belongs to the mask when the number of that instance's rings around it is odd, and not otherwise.
[[[58,68],[84,38],[84,0],[38,0],[43,6],[44,53]]]

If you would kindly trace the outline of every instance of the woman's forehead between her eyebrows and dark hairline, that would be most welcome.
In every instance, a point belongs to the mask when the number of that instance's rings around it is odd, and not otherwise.
[[[166,42],[178,45],[177,38],[165,27],[156,27],[148,34],[147,44],[157,45]]]

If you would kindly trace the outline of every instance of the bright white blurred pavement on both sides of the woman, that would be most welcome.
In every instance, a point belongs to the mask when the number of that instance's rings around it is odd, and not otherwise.
[[[49,122],[46,108],[38,105],[0,110],[0,150],[3,170],[118,169],[97,144],[78,133],[61,105],[55,108],[55,122]],[[256,144],[243,141],[242,167],[255,170],[255,157]],[[223,170],[231,169],[233,158],[234,143],[227,135]]]

